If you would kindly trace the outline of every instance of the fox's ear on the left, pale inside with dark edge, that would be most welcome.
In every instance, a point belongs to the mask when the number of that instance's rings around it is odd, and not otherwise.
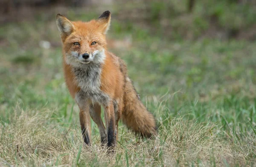
[[[57,14],[56,23],[61,34],[70,35],[74,30],[73,23],[61,14]]]

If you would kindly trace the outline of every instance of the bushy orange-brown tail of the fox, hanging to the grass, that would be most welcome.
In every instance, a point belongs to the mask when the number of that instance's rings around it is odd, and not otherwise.
[[[157,126],[154,116],[148,112],[139,100],[137,92],[129,78],[126,79],[124,94],[124,109],[122,122],[136,134],[150,138],[156,134]]]

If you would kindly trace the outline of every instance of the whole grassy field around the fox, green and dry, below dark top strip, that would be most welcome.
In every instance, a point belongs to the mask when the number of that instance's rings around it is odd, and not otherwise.
[[[90,20],[104,9],[55,9],[0,27],[0,166],[256,166],[255,40],[198,37],[208,25],[198,12],[193,39],[181,38],[182,27],[169,39],[114,10],[109,50],[127,63],[159,133],[142,140],[120,123],[116,153],[108,155],[93,121],[92,147],[83,147],[62,73],[59,11]]]

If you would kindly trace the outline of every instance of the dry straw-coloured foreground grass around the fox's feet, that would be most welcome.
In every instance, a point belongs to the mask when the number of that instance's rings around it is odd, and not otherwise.
[[[246,157],[256,151],[250,133],[234,143],[231,136],[220,137],[225,132],[214,124],[166,118],[163,122],[168,124],[160,125],[155,140],[135,140],[134,134],[119,127],[120,140],[113,155],[100,146],[99,134],[92,136],[92,147],[84,147],[78,124],[58,123],[53,114],[48,109],[16,107],[11,122],[0,125],[0,165],[234,166],[249,165]]]

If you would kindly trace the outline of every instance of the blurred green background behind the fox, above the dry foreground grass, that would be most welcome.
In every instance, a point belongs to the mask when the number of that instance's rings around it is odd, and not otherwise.
[[[88,21],[110,10],[108,49],[127,63],[160,131],[183,116],[216,124],[223,141],[255,139],[255,0],[3,0],[0,9],[1,124],[42,108],[55,110],[57,122],[77,122],[55,17]],[[248,162],[256,158],[253,144]]]

